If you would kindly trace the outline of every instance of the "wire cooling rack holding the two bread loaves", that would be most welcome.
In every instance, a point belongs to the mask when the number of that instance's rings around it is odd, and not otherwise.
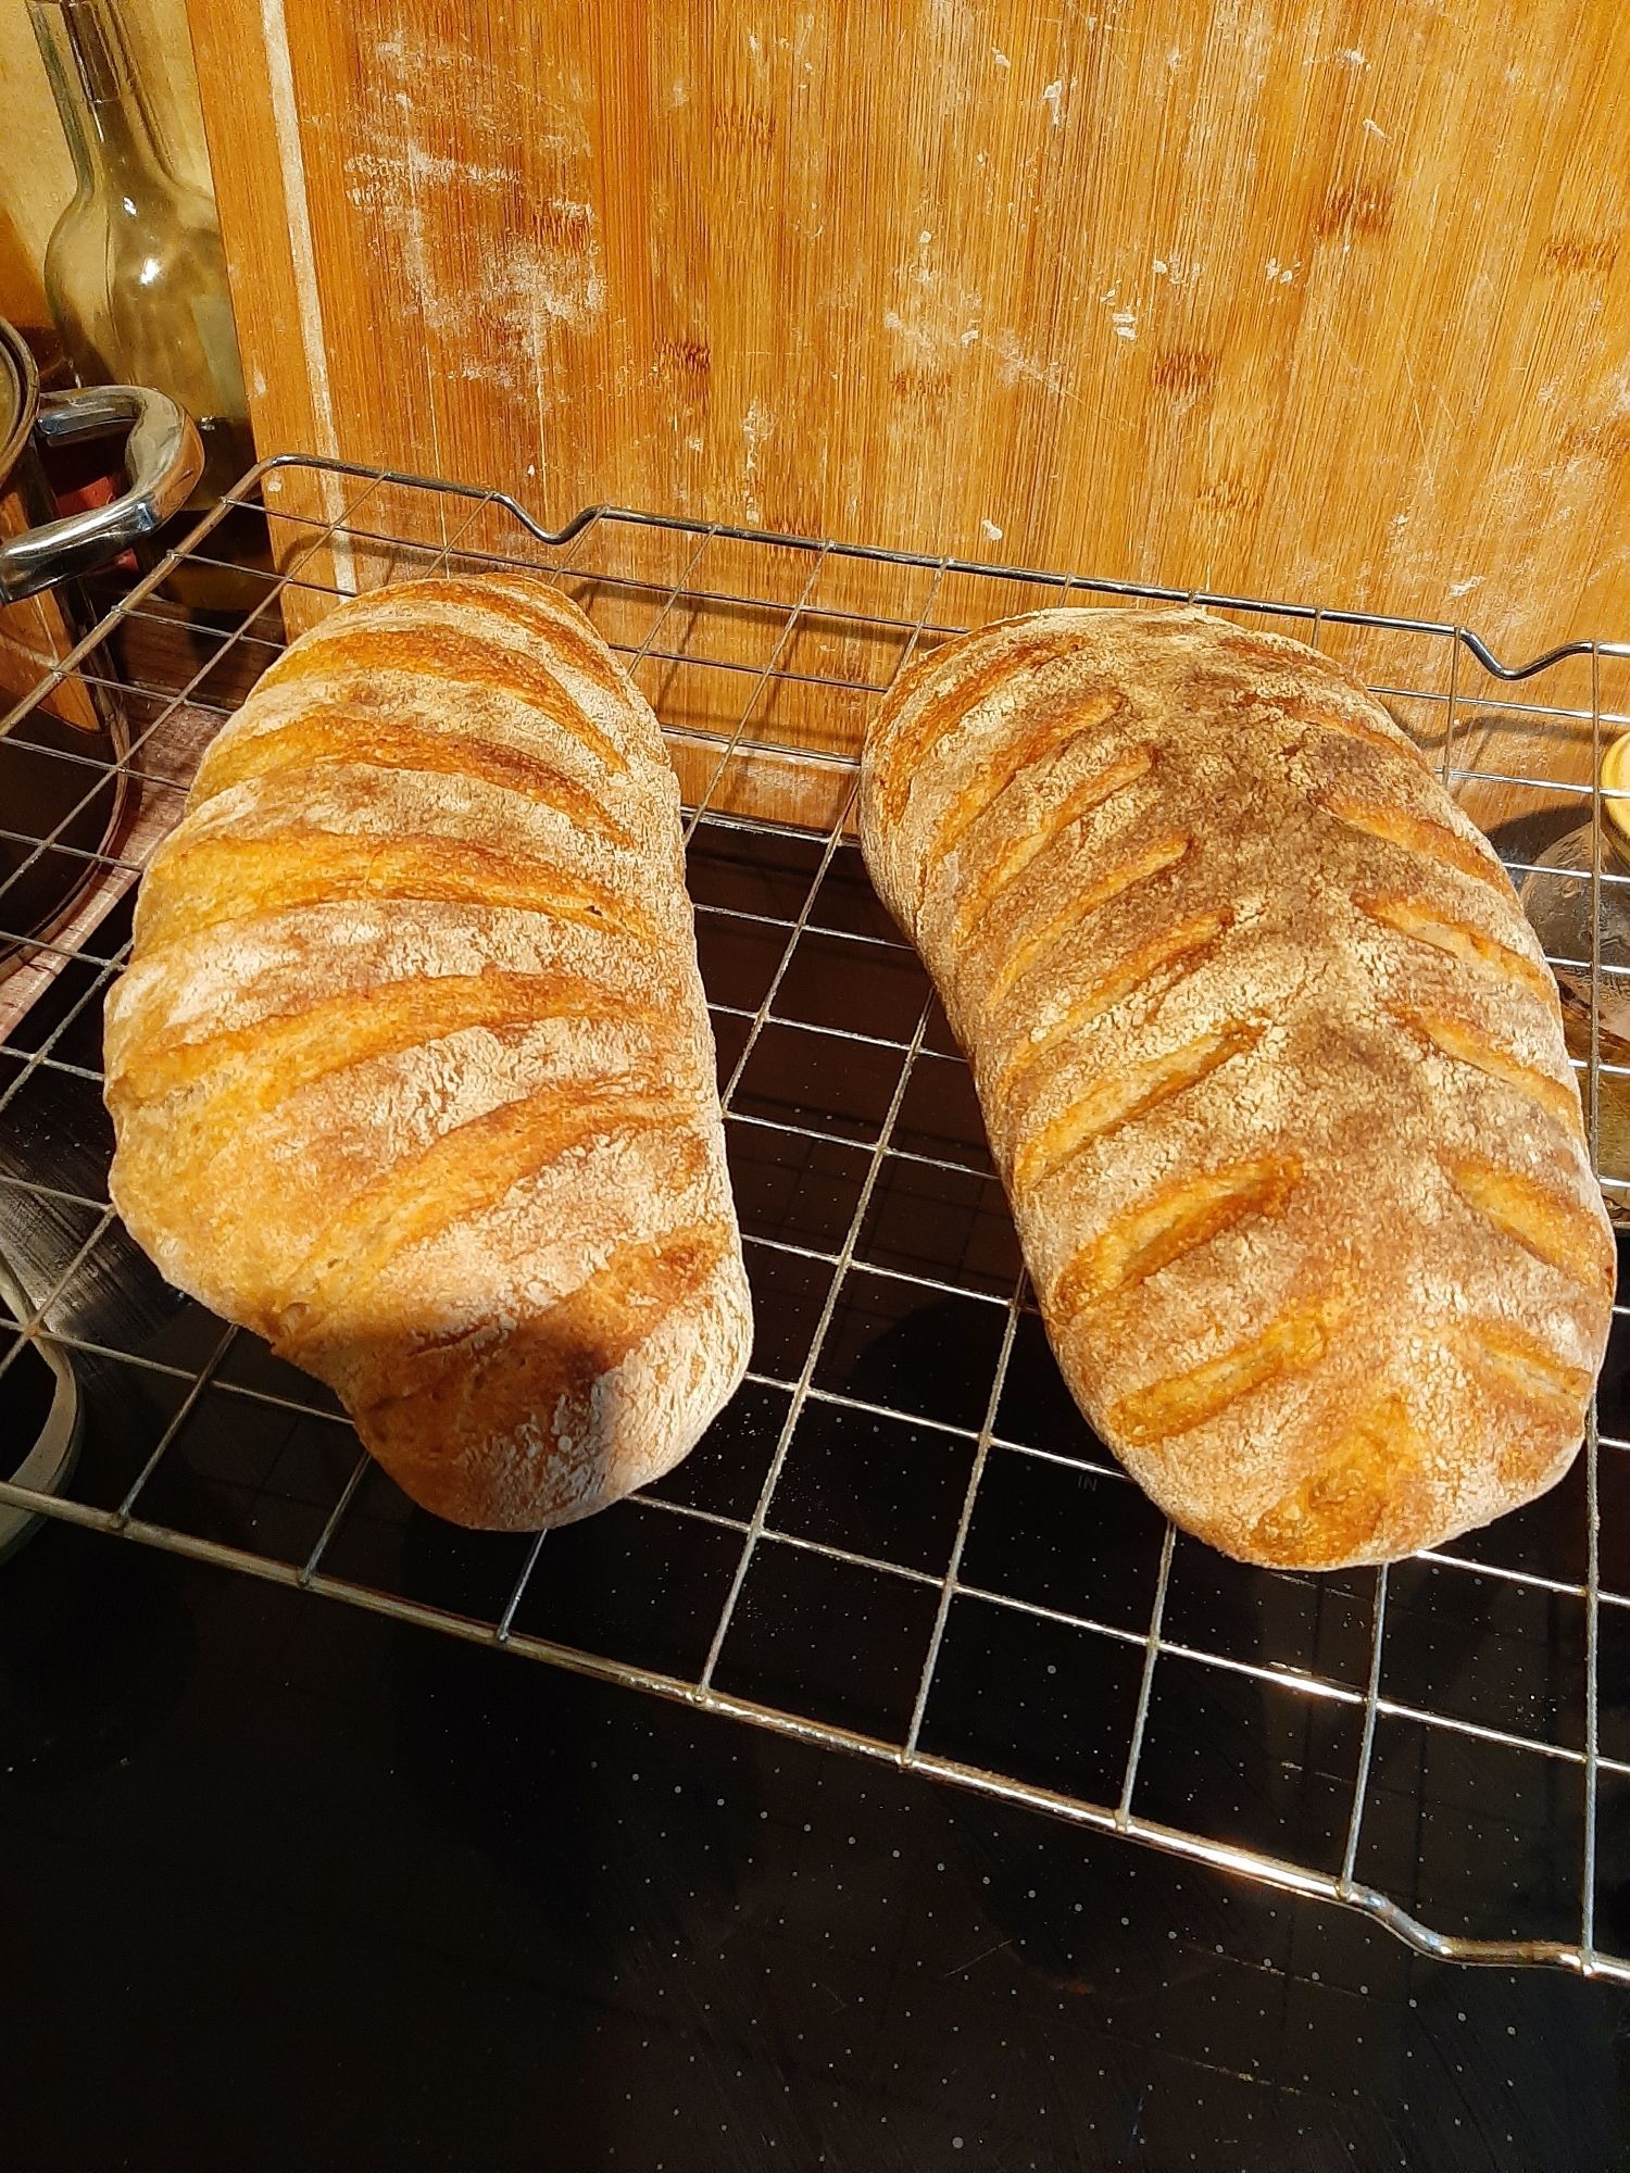
[[[0,732],[0,1254],[22,1291],[4,1439],[26,1447],[41,1343],[80,1399],[61,1495],[4,1482],[0,1504],[1345,1901],[1437,1956],[1630,1982],[1623,1312],[1602,1430],[1487,1532],[1326,1578],[1176,1534],[1063,1391],[967,1069],[852,841],[865,715],[915,650],[1048,602],[1184,591],[611,508],[546,535],[502,493],[298,459],[233,504],[265,508],[278,567],[235,576],[239,611],[176,602],[230,567],[222,508]],[[411,1510],[319,1384],[170,1291],[106,1204],[100,1100],[130,884],[209,734],[337,595],[487,565],[550,569],[669,737],[758,1321],[693,1456],[546,1538]],[[1198,600],[1363,669],[1517,880],[1591,813],[1626,648],[1506,667],[1447,624]],[[11,765],[78,763],[72,804],[111,800],[109,765],[39,728],[63,678],[124,715],[135,811],[98,854],[67,843],[72,815],[4,830]],[[57,941],[26,941],[9,893],[50,858],[63,878],[93,861],[98,887]],[[1580,876],[1593,906],[1615,880],[1600,858]],[[1606,1154],[1630,1095],[1615,965],[1600,937],[1563,965],[1589,993],[1578,1063]],[[1626,1176],[1604,1169],[1610,1197]]]

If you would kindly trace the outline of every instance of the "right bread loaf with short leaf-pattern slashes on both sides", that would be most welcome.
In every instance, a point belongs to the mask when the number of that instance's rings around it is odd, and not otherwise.
[[[1556,989],[1354,680],[1200,611],[989,626],[882,704],[861,837],[1065,1378],[1180,1525],[1334,1569],[1560,1478],[1615,1254]]]

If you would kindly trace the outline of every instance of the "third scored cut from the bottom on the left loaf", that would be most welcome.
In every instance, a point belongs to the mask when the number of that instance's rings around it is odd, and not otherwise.
[[[615,1019],[654,1026],[652,1010],[622,1004],[561,974],[417,974],[374,989],[317,997],[202,1041],[139,1047],[109,1086],[130,1102],[159,1102],[198,1084],[222,1084],[239,1117],[263,1115],[335,1071],[396,1056],[472,1026],[543,1019]]]

